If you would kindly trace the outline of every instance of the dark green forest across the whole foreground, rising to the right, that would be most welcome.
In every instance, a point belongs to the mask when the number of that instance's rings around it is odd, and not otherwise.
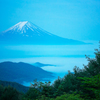
[[[75,66],[74,73],[68,71],[53,84],[34,80],[26,93],[0,85],[0,100],[100,100],[100,46],[94,53],[95,58],[86,56],[83,69]]]

